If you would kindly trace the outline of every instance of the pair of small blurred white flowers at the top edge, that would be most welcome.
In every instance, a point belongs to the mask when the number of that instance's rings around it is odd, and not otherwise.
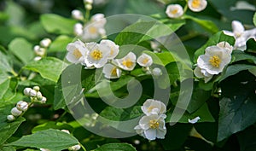
[[[189,0],[187,5],[190,10],[200,12],[207,8],[207,0]],[[183,14],[184,10],[180,4],[170,4],[166,8],[166,15],[170,18],[178,18]]]

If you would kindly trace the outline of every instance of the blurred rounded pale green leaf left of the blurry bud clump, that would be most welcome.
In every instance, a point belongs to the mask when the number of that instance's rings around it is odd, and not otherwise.
[[[8,47],[9,50],[24,64],[31,61],[34,56],[32,44],[27,42],[25,38],[15,38],[11,41]]]

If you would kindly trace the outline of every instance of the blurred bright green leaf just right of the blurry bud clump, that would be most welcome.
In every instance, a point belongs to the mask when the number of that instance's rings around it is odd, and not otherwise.
[[[71,43],[73,41],[73,38],[70,38],[66,35],[61,35],[52,42],[52,44],[49,45],[48,52],[66,52],[67,44]]]

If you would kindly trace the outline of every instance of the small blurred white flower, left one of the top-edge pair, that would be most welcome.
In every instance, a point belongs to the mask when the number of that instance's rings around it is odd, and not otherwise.
[[[171,4],[166,8],[166,15],[170,18],[178,18],[184,13],[183,7],[179,4]]]

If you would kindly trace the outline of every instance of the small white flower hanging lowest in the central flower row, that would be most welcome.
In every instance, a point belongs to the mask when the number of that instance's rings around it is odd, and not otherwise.
[[[104,73],[105,78],[119,78],[121,76],[122,70],[108,63],[103,67],[102,72]]]

